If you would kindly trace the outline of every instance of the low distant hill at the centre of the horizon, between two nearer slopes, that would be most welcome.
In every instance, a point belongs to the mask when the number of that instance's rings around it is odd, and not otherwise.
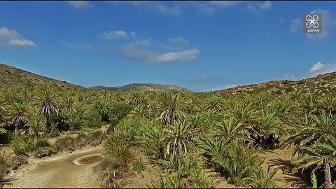
[[[110,90],[110,91],[120,91],[129,92],[134,90],[153,90],[153,91],[189,91],[185,88],[178,87],[176,85],[162,85],[153,83],[132,83],[128,85],[123,85],[121,87],[104,87],[104,86],[94,86],[89,87],[91,90]]]

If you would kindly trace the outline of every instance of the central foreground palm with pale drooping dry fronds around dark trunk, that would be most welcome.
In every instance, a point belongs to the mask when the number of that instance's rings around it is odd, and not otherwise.
[[[196,132],[197,130],[191,126],[191,123],[186,123],[186,120],[178,120],[174,125],[168,125],[167,152],[172,151],[173,155],[186,155],[187,148],[194,147],[192,139]]]

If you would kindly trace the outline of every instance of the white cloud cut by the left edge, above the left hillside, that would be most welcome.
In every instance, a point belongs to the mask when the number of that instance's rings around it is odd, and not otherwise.
[[[13,47],[36,47],[34,41],[22,38],[18,31],[0,27],[0,45]]]

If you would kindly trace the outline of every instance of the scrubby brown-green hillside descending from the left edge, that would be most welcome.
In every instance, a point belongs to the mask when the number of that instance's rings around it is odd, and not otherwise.
[[[80,85],[66,83],[66,81],[55,80],[45,76],[40,76],[35,73],[31,73],[29,71],[18,69],[13,66],[0,64],[0,87],[3,85],[11,85],[11,84],[15,85],[20,83],[26,83],[28,80],[31,81],[32,83],[54,87],[56,86],[65,88],[79,87],[85,89]]]

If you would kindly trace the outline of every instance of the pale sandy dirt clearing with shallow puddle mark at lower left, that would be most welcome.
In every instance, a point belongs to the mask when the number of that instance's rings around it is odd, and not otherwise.
[[[103,152],[102,146],[89,146],[71,154],[57,153],[48,158],[32,159],[12,172],[16,180],[3,188],[100,188],[100,179],[92,172],[99,162],[74,165],[73,160]]]

